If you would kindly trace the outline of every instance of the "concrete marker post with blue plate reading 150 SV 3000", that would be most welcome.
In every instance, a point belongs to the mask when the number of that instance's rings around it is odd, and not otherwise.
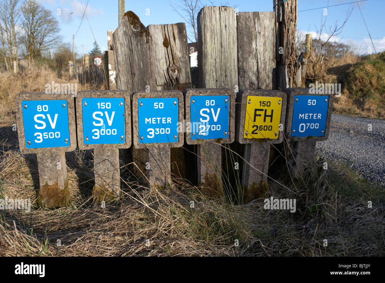
[[[121,194],[119,148],[131,146],[131,94],[84,90],[76,98],[79,149],[94,149],[94,202]]]

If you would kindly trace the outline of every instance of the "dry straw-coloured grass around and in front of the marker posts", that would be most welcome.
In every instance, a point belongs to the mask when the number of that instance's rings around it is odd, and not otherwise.
[[[24,83],[30,90],[35,84]],[[40,83],[34,90],[42,90]],[[66,153],[71,203],[54,211],[38,208],[36,156],[20,153],[10,126],[19,90],[16,86],[1,102],[10,111],[1,116],[0,199],[30,198],[32,208],[0,210],[0,256],[384,255],[384,188],[341,164],[329,164],[327,171],[312,165],[290,186],[280,178],[269,181],[270,196],[296,199],[295,213],[265,210],[264,199],[240,205],[207,199],[183,180],[149,191],[127,171],[121,174],[122,197],[102,208],[91,202],[92,151],[75,150]]]

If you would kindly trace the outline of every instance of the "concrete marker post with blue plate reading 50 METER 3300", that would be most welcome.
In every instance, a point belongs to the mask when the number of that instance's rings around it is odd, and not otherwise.
[[[135,92],[132,96],[133,143],[147,151],[147,187],[171,184],[171,147],[181,147],[184,99],[178,90]]]

